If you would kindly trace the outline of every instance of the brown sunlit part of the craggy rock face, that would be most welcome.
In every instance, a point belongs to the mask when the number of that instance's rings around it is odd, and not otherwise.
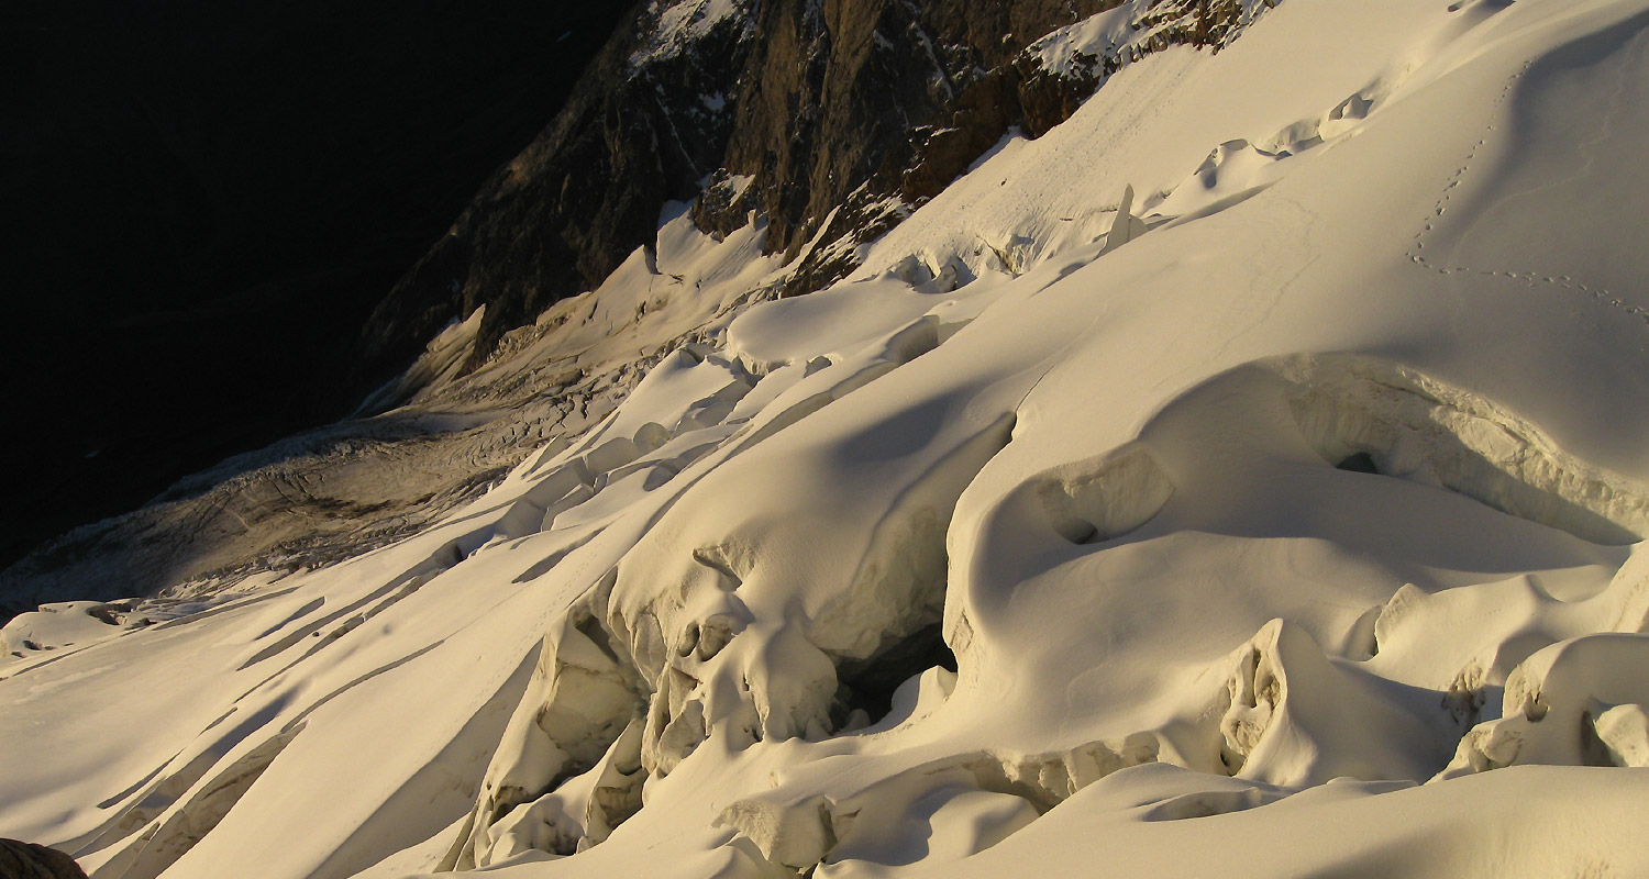
[[[770,218],[768,246],[795,252],[861,186],[877,195],[935,195],[1008,125],[1024,120],[1014,69],[1024,48],[1115,5],[882,0],[765,7],[724,163],[732,173],[755,175],[759,208]],[[1045,130],[1060,119],[1039,122]]]

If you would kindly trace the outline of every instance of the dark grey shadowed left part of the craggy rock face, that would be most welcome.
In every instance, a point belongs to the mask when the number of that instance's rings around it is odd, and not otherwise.
[[[749,0],[679,26],[702,5],[648,3],[620,23],[554,122],[378,305],[363,330],[373,379],[486,305],[478,364],[505,331],[595,287],[651,239],[666,200],[698,193],[721,162],[729,86],[754,36]]]

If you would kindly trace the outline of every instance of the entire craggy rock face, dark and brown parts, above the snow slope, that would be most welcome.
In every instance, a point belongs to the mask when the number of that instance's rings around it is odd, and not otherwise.
[[[364,369],[388,379],[440,327],[486,305],[468,358],[480,366],[508,330],[594,289],[651,241],[666,200],[696,198],[694,221],[716,234],[763,214],[767,251],[801,257],[785,294],[816,290],[1009,129],[1044,134],[1136,58],[1102,48],[1050,66],[1036,51],[1050,31],[1120,5],[643,3],[556,120],[378,305]],[[1126,12],[1151,31],[1146,51],[1217,49],[1252,16],[1245,8],[1135,0]]]

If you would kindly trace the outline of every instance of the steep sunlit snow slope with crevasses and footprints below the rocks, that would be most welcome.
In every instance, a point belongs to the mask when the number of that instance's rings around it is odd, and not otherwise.
[[[1649,872],[1646,68],[1639,0],[1285,3],[821,294],[671,208],[427,392],[632,376],[434,528],[7,627],[0,834],[99,877]]]

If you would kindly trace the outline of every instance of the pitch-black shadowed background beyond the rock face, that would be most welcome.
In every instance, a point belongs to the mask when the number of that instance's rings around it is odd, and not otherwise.
[[[628,2],[0,10],[0,567],[346,414],[373,305]]]

